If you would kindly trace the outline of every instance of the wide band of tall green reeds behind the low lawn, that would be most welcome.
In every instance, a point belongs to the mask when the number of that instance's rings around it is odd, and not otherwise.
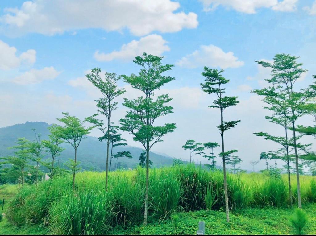
[[[24,186],[6,209],[16,226],[39,223],[55,234],[104,234],[113,227],[128,228],[143,221],[144,168],[109,173],[80,172],[76,190],[70,177],[56,178],[38,186]],[[296,176],[291,176],[296,204]],[[301,176],[303,203],[316,202],[316,180]],[[262,173],[228,175],[228,199],[232,212],[246,208],[289,208],[287,176],[270,178]],[[225,207],[223,174],[194,165],[151,169],[149,175],[149,222],[169,219],[174,212],[222,211]]]

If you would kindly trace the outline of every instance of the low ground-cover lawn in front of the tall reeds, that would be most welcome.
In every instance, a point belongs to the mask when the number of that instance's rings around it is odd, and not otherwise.
[[[316,234],[316,204],[307,204],[304,207],[309,222],[305,234]],[[230,223],[226,222],[225,212],[196,211],[179,213],[178,234],[196,234],[198,222],[205,222],[205,234],[293,234],[289,225],[290,209],[245,209],[240,213],[230,215]],[[175,234],[171,219],[160,223],[151,223],[146,227],[137,226],[122,230],[115,228],[113,234]]]

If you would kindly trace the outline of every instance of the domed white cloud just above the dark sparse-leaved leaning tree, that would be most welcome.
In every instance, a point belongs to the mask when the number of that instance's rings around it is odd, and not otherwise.
[[[221,48],[214,45],[201,45],[200,49],[182,57],[176,64],[187,68],[211,66],[227,69],[243,66],[244,62],[238,61],[238,58],[231,51],[225,53]]]

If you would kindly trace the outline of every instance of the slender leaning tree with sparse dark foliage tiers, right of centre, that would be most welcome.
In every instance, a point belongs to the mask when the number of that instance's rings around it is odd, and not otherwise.
[[[220,153],[220,156],[222,156],[223,159],[223,174],[224,174],[224,192],[225,192],[225,208],[226,208],[226,220],[229,222],[229,207],[228,207],[228,192],[227,192],[227,177],[226,177],[226,156],[229,154],[232,154],[236,152],[237,150],[230,150],[225,152],[224,148],[224,132],[226,130],[229,130],[231,128],[234,128],[240,120],[235,121],[224,121],[223,113],[226,108],[230,106],[236,106],[239,101],[237,100],[237,97],[235,96],[224,96],[225,94],[225,88],[223,88],[223,85],[227,84],[229,82],[228,79],[225,79],[222,76],[222,72],[224,70],[213,70],[208,67],[204,67],[204,71],[202,72],[202,75],[206,77],[204,80],[205,83],[201,83],[202,90],[207,94],[215,94],[217,96],[217,99],[214,100],[213,105],[210,105],[211,108],[218,108],[220,109],[221,114],[221,124],[217,126],[217,128],[220,130],[221,138],[222,138],[222,153]]]

